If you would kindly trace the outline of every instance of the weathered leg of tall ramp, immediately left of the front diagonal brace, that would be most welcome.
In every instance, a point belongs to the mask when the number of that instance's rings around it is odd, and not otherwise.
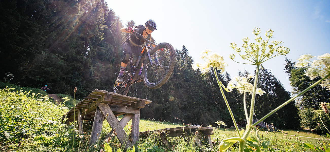
[[[99,137],[101,136],[102,125],[103,125],[103,115],[101,113],[101,110],[98,109],[95,111],[94,122],[92,126],[92,132],[88,147],[91,147],[92,145],[95,145],[97,143]]]

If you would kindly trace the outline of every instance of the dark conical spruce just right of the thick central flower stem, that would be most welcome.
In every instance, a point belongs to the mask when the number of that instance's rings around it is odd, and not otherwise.
[[[290,93],[284,89],[281,82],[272,72],[263,66],[260,69],[258,80],[259,87],[266,92],[262,96],[257,96],[255,102],[255,113],[260,118],[291,97]],[[287,117],[287,115],[290,115],[290,117]],[[291,102],[268,117],[265,121],[273,123],[278,128],[298,128],[300,121],[298,109],[295,107],[294,102]]]

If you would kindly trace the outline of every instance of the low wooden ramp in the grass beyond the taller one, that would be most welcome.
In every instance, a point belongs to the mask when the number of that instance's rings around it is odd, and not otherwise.
[[[212,127],[199,127],[199,126],[184,126],[177,128],[165,128],[160,130],[140,132],[141,137],[148,137],[150,133],[159,133],[162,143],[168,147],[172,148],[172,145],[166,139],[167,137],[186,137],[187,140],[194,140],[195,143],[201,147],[204,138],[207,144],[213,149],[211,135],[213,135]],[[204,150],[203,150],[204,151]]]

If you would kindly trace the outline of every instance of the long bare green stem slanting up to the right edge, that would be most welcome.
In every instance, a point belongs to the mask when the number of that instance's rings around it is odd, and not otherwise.
[[[266,114],[264,117],[262,117],[260,120],[258,120],[257,122],[255,122],[253,124],[257,125],[258,123],[260,123],[261,121],[265,120],[267,117],[269,117],[271,114],[275,113],[277,110],[281,109],[283,106],[289,104],[291,101],[293,101],[294,99],[296,99],[297,97],[301,96],[302,94],[306,93],[308,90],[312,89],[314,86],[316,86],[317,84],[319,84],[321,81],[323,81],[324,79],[326,79],[327,77],[330,76],[330,73],[328,75],[326,75],[325,77],[323,77],[322,79],[316,81],[313,85],[309,86],[308,88],[306,88],[305,90],[301,91],[299,94],[297,94],[296,96],[292,97],[291,99],[289,99],[288,101],[286,101],[285,103],[283,103],[282,105],[278,106],[277,108],[275,108],[274,110],[272,110],[271,112],[269,112],[268,114]]]

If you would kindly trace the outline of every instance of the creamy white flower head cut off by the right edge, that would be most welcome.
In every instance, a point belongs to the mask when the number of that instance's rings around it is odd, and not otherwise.
[[[317,56],[317,59],[312,61],[315,56],[311,54],[305,54],[300,56],[297,60],[295,67],[303,68],[307,67],[306,76],[309,76],[311,80],[316,77],[325,77],[330,74],[330,54],[325,53],[323,55]],[[322,87],[327,88],[330,90],[330,78],[324,79],[320,85]]]

